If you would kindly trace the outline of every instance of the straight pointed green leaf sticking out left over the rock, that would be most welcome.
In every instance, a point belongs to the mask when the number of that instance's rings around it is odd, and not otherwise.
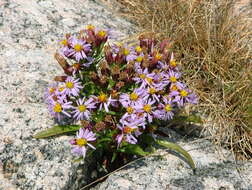
[[[57,125],[34,135],[34,138],[41,139],[64,133],[74,132],[81,128],[79,125]]]

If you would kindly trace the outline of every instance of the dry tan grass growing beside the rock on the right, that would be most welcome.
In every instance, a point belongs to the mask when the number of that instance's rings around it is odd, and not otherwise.
[[[252,158],[252,40],[249,15],[233,0],[121,0],[120,14],[170,38],[186,80],[212,119],[212,139]],[[155,3],[154,3],[155,2]],[[114,4],[115,6],[115,4]],[[251,19],[251,17],[250,17]],[[250,27],[250,28],[249,28]]]

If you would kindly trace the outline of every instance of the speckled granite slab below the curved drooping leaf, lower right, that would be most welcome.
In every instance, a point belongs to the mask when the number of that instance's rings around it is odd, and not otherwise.
[[[92,190],[251,190],[252,163],[236,163],[230,152],[217,149],[205,139],[177,143],[193,157],[196,173],[176,154],[159,149],[155,155],[133,162]],[[168,139],[171,140],[171,139]]]

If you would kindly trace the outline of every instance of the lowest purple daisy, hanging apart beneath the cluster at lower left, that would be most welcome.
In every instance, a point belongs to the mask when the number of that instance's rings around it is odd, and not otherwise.
[[[90,141],[96,140],[95,134],[89,129],[80,128],[79,133],[77,132],[76,134],[76,137],[76,139],[70,141],[70,143],[74,145],[72,153],[85,158],[87,152],[86,145],[92,149],[95,149],[92,144],[88,143]]]

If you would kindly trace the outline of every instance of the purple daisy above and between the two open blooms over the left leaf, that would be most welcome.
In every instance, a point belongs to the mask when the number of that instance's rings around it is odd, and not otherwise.
[[[65,81],[65,86],[64,90],[62,93],[65,93],[66,95],[73,95],[73,96],[78,96],[80,89],[83,87],[81,86],[81,83],[79,82],[79,79],[74,79],[73,77],[67,77]]]

